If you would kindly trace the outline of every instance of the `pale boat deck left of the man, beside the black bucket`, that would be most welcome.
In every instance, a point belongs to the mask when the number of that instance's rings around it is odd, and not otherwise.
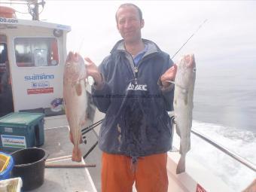
[[[67,126],[66,117],[45,118],[44,137],[44,145],[41,148],[44,148],[49,154],[46,163],[57,165],[85,163],[84,160],[81,163],[75,163],[70,158],[73,145],[69,141],[69,127]],[[84,151],[87,151],[86,145],[81,145],[81,150],[82,154],[85,154]],[[90,162],[90,160],[87,163],[96,164],[95,161]],[[88,169],[99,169],[97,166],[96,164],[96,167],[91,168],[45,168],[44,184],[31,191],[95,192],[97,190]]]

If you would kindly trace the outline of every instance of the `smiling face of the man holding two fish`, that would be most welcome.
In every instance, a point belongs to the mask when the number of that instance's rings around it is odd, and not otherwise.
[[[127,43],[139,41],[144,20],[140,20],[139,12],[133,6],[120,8],[117,11],[117,29]]]

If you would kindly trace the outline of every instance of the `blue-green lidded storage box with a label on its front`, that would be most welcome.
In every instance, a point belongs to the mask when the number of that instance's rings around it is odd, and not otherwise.
[[[15,112],[0,118],[0,149],[17,151],[44,144],[44,114]]]

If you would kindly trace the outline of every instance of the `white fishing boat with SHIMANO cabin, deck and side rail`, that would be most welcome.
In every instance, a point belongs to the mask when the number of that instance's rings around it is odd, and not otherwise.
[[[50,156],[46,160],[48,168],[45,169],[44,184],[32,191],[100,191],[101,153],[95,146],[104,114],[91,102],[90,85],[87,86],[89,119],[83,130],[84,144],[81,147],[84,160],[79,165],[70,160],[72,144],[68,139],[69,126],[65,111],[61,107],[58,108],[62,104],[62,75],[67,56],[66,38],[70,31],[70,26],[62,24],[20,20],[16,17],[14,9],[0,7],[0,116],[24,111],[45,115],[45,141],[41,148],[49,151]],[[206,136],[195,130],[192,130],[192,134],[212,145],[220,153],[232,157],[242,166],[256,171],[254,164]],[[176,167],[180,155],[178,136],[175,133],[173,135],[173,148],[168,152],[167,163],[170,192],[234,191],[210,169],[189,155],[186,171],[177,175]],[[3,142],[0,142],[0,145],[1,150],[5,150]],[[62,165],[62,168],[54,169],[52,166],[53,169],[50,169],[50,163],[55,163],[55,168]],[[90,163],[95,163],[96,167],[81,166]],[[135,188],[133,190],[136,191]]]

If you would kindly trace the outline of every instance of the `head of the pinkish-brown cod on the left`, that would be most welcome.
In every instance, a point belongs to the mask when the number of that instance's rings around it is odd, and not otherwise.
[[[76,83],[86,78],[86,68],[83,57],[79,53],[69,52],[64,68],[64,79]]]

